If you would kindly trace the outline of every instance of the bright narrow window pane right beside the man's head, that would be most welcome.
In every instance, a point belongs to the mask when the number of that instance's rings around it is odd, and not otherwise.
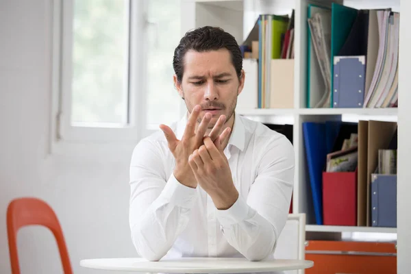
[[[179,119],[178,96],[173,84],[173,53],[180,40],[180,1],[150,0],[148,32],[149,127]]]

